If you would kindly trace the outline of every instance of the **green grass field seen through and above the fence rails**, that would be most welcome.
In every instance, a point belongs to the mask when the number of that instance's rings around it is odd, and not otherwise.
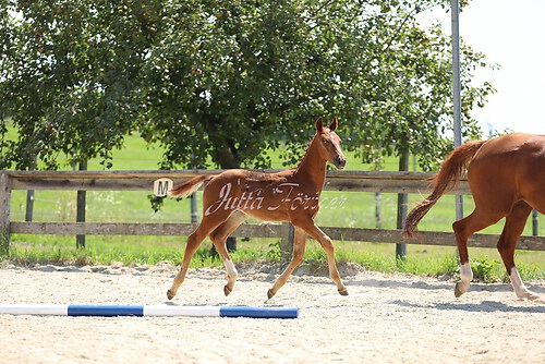
[[[137,137],[128,137],[125,147],[114,153],[113,169],[117,170],[156,170],[161,150],[149,148]],[[359,162],[350,154],[348,169],[371,170],[372,167]],[[272,168],[281,168],[281,160],[272,158]],[[397,160],[390,158],[384,170],[396,170]],[[98,160],[88,163],[89,169],[99,170]],[[68,167],[66,167],[68,169]],[[162,209],[154,213],[147,195],[150,192],[87,192],[87,221],[95,222],[190,222],[189,199],[177,202],[167,199]],[[35,194],[34,221],[75,221],[75,192],[37,191]],[[411,195],[410,206],[422,196]],[[13,221],[23,221],[25,216],[25,191],[12,194]],[[397,195],[380,195],[380,227],[393,229],[396,226]],[[341,202],[341,203],[340,203]],[[322,209],[316,221],[319,226],[376,228],[375,194],[355,192],[324,192]],[[421,230],[451,231],[455,219],[452,196],[444,196],[420,225]],[[464,209],[472,210],[472,199],[464,198]],[[540,235],[545,234],[544,223]],[[483,232],[499,233],[502,225],[498,223]],[[531,234],[529,221],[524,234]],[[75,262],[80,264],[154,264],[162,259],[175,263],[181,260],[185,238],[183,236],[87,236],[86,248],[75,248],[74,236],[61,235],[13,235],[10,252],[11,259],[21,263],[35,260]],[[235,260],[269,259],[278,256],[278,240],[252,239],[239,240]],[[221,265],[210,256],[210,243],[205,241],[204,248],[194,258],[194,266]],[[337,257],[340,262],[356,262],[370,269],[382,271],[405,271],[414,274],[443,275],[456,271],[457,253],[452,247],[429,245],[408,245],[408,259],[403,263],[395,258],[395,244],[336,242]],[[471,248],[470,256],[477,266],[486,266],[493,277],[505,279],[502,264],[496,250]],[[545,252],[517,252],[517,263],[521,274],[531,278],[545,278]],[[325,268],[325,255],[317,244],[310,240],[305,264]]]

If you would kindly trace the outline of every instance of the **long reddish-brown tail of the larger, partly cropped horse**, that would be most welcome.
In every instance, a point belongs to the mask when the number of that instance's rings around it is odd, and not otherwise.
[[[457,147],[443,162],[439,172],[432,180],[432,192],[417,204],[407,216],[403,234],[407,238],[413,238],[416,226],[427,211],[446,192],[458,185],[469,160],[483,146],[486,141],[472,141]]]

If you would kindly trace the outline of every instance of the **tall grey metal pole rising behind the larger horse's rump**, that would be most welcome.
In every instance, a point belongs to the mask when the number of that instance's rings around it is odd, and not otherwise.
[[[460,83],[460,8],[458,0],[451,0],[451,27],[452,27],[452,104],[453,104],[453,130],[455,147],[462,144],[462,107],[461,107],[461,83]],[[456,219],[463,218],[463,196],[456,195]]]

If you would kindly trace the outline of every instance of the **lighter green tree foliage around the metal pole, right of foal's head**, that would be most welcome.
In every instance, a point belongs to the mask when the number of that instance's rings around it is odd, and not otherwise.
[[[364,86],[355,99],[366,102],[352,108],[355,122],[349,129],[359,142],[358,154],[368,162],[377,156],[382,159],[411,153],[420,156],[422,168],[429,170],[452,148],[450,37],[439,25],[427,32],[420,27],[414,17],[420,5],[422,2],[413,9],[398,9],[397,15],[386,22],[390,26],[376,27],[380,32],[376,51],[355,60],[366,65],[354,76],[356,85]],[[474,138],[481,132],[471,110],[483,106],[494,88],[489,83],[472,84],[472,72],[486,66],[484,54],[465,45],[462,52],[462,132],[464,137]]]

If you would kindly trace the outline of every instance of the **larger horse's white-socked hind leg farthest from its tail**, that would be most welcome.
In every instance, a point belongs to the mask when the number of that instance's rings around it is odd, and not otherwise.
[[[501,259],[504,260],[504,265],[506,266],[507,274],[511,278],[511,284],[517,296],[519,299],[535,300],[538,299],[540,295],[528,290],[520,278],[517,267],[514,266],[514,248],[517,246],[517,240],[524,230],[524,226],[531,211],[532,207],[523,201],[514,204],[511,213],[506,218],[506,225],[504,227],[504,231],[501,232],[501,236],[499,236],[497,247],[499,254],[501,255]]]

